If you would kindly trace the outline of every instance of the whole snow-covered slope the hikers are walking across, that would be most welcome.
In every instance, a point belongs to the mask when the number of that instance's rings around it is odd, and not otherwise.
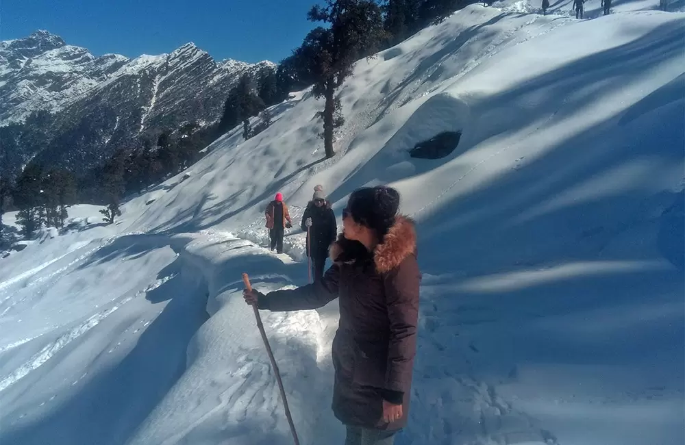
[[[0,259],[0,439],[291,443],[240,273],[304,283],[303,234],[288,255],[260,248],[264,206],[283,192],[297,219],[321,183],[339,217],[349,192],[390,183],[423,272],[398,444],[682,443],[684,25],[471,5],[358,62],[334,159],[301,92],[118,226]],[[451,155],[408,156],[441,131],[462,131]],[[337,303],[262,318],[301,442],[340,443]]]

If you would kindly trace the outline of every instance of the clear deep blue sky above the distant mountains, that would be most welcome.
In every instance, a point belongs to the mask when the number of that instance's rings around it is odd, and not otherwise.
[[[0,0],[0,40],[46,29],[94,55],[169,53],[195,42],[216,60],[278,62],[316,26],[316,0]]]

